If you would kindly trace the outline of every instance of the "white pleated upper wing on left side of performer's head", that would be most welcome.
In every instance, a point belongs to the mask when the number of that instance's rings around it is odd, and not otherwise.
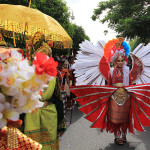
[[[85,40],[79,45],[80,51],[73,65],[76,85],[105,85],[105,77],[99,69],[104,44],[104,41],[99,41],[94,46],[90,41]],[[106,66],[109,69],[109,65]]]

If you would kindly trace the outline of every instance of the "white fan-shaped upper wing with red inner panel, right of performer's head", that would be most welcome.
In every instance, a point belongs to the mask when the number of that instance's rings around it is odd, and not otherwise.
[[[139,44],[130,56],[132,81],[136,84],[150,83],[150,43],[146,46]]]

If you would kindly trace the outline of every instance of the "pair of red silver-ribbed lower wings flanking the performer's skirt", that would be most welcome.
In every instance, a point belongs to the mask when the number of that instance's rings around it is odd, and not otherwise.
[[[109,100],[118,87],[112,86],[74,86],[71,91],[76,94],[82,105],[79,110],[86,114],[85,118],[92,122],[92,128],[107,128],[107,112]],[[131,98],[129,131],[144,131],[150,126],[150,84],[124,87]]]

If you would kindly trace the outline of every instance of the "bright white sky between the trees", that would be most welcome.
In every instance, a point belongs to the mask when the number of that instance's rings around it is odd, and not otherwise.
[[[86,35],[89,36],[91,42],[96,44],[99,40],[111,40],[116,37],[115,31],[109,29],[107,24],[102,24],[98,20],[93,21],[91,16],[93,10],[97,8],[98,3],[102,0],[65,0],[70,12],[73,12],[75,17],[71,20],[78,26],[82,26]],[[108,34],[104,35],[104,30],[108,30]]]

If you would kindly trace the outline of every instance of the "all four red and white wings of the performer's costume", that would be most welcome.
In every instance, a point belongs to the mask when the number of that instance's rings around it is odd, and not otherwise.
[[[103,44],[102,44],[103,43]],[[108,80],[109,65],[103,58],[104,42],[96,47],[89,41],[80,44],[80,52],[74,64],[77,85],[71,91],[77,96],[82,106],[79,108],[86,114],[85,118],[92,122],[92,128],[107,128],[109,101],[118,89],[105,85]],[[128,129],[144,131],[143,127],[150,126],[150,44],[139,45],[131,54],[131,79],[136,84],[123,87],[130,94],[130,115]],[[137,71],[138,70],[138,71]],[[134,76],[132,76],[134,75]],[[147,83],[147,84],[144,84]]]

